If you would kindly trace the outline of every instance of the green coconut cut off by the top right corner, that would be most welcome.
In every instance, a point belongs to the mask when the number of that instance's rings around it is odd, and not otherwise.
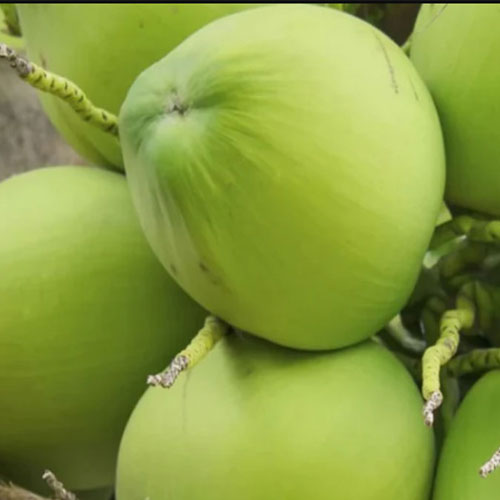
[[[446,145],[446,199],[500,215],[500,9],[423,4],[411,60],[438,109]]]

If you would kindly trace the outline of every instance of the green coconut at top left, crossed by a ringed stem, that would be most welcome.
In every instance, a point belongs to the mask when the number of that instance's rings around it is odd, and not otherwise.
[[[79,85],[118,113],[137,75],[210,21],[245,4],[19,4],[29,58]],[[40,94],[64,138],[99,165],[123,165],[116,138],[83,122],[60,99]]]

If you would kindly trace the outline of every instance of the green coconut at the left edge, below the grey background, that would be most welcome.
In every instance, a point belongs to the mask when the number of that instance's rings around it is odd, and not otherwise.
[[[73,491],[111,485],[147,375],[205,313],[151,252],[121,175],[12,177],[0,213],[0,471],[41,493],[46,468]]]

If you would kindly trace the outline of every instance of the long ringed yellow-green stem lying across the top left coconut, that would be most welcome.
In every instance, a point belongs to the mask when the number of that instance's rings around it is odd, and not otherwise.
[[[0,44],[0,59],[6,59],[18,75],[32,87],[64,100],[82,118],[101,130],[118,136],[116,115],[95,106],[85,93],[66,78],[44,70],[19,57],[5,44]]]

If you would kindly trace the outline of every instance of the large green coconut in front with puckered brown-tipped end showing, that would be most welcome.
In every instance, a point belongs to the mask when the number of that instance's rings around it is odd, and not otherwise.
[[[120,137],[155,253],[227,322],[330,349],[408,298],[442,137],[413,66],[368,23],[307,5],[215,21],[138,77]]]

